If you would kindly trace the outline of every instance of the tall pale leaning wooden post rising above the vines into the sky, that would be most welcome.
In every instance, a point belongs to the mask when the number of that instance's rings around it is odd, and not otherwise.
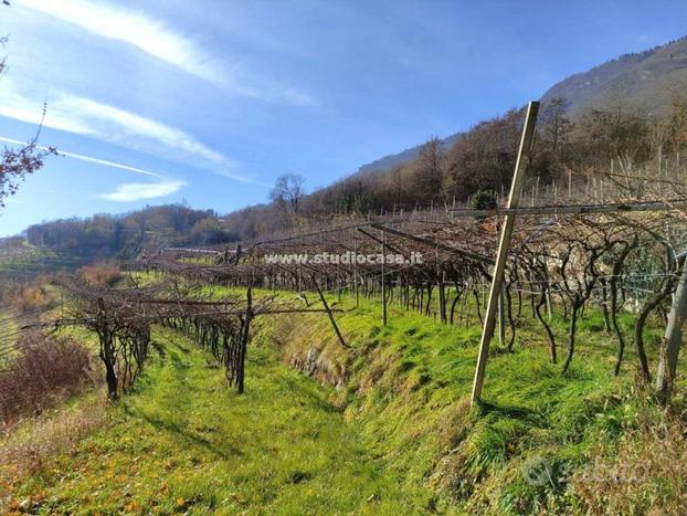
[[[532,147],[535,135],[535,125],[537,123],[537,113],[539,112],[539,103],[530,102],[525,118],[525,127],[522,129],[522,138],[518,150],[518,159],[516,161],[515,172],[512,175],[512,183],[510,186],[510,196],[508,198],[508,208],[517,208],[520,200],[520,188],[522,178],[529,161],[529,154]],[[479,343],[479,355],[477,357],[477,369],[475,370],[475,382],[473,385],[473,396],[471,404],[475,404],[482,394],[482,386],[484,385],[484,373],[487,367],[487,358],[489,356],[489,344],[494,337],[496,326],[496,309],[498,297],[504,285],[504,271],[506,261],[508,260],[508,251],[510,250],[510,239],[512,236],[512,227],[515,223],[515,213],[506,215],[501,239],[498,246],[498,255],[494,267],[494,276],[492,278],[492,288],[489,291],[489,302],[487,303],[487,312],[484,318],[484,329],[482,331],[482,341]]]

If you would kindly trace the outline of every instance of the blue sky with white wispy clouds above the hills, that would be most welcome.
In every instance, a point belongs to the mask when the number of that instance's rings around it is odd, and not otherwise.
[[[685,0],[11,0],[0,148],[60,156],[0,210],[32,223],[265,202],[687,34]],[[46,106],[43,118],[43,105]]]

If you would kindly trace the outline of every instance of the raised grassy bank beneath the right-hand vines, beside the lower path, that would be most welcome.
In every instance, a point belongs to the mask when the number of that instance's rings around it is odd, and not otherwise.
[[[352,301],[344,297],[339,307],[350,308]],[[320,380],[340,383],[346,376],[335,398],[347,420],[362,428],[368,446],[388,461],[405,488],[423,487],[425,509],[521,514],[543,504],[570,509],[577,499],[564,482],[530,485],[522,470],[545,459],[563,478],[596,442],[635,425],[630,394],[635,357],[626,351],[627,372],[613,377],[615,341],[593,313],[580,325],[573,366],[563,377],[561,366],[549,362],[527,306],[522,314],[516,352],[492,357],[486,404],[479,410],[468,409],[480,333],[474,325],[451,327],[392,307],[382,328],[379,305],[362,301],[357,310],[337,315],[351,352],[341,349],[321,314],[262,318],[257,326],[277,337],[286,361],[303,362],[316,348]],[[628,328],[632,316],[623,323]],[[554,325],[564,340],[563,322]],[[649,334],[655,356],[658,334]]]

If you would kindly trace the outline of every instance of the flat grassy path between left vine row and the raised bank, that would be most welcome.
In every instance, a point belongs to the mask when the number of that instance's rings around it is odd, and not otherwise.
[[[178,334],[114,422],[19,486],[49,513],[390,514],[413,496],[313,380],[273,349],[249,354],[246,393]]]

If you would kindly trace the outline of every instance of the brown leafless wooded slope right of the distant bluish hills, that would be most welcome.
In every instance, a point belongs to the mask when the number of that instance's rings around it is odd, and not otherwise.
[[[568,116],[569,103],[554,98],[542,106],[531,160],[540,185],[567,183],[570,176],[593,177],[600,164],[607,171],[633,170],[662,161],[675,165],[687,148],[687,95],[676,95],[660,116],[622,105]],[[522,124],[522,109],[482,122],[448,147],[433,138],[416,156],[391,169],[359,172],[304,196],[298,210],[273,203],[224,218],[232,234],[253,238],[266,231],[306,227],[309,221],[379,214],[419,207],[469,201],[475,193],[495,197],[509,186]]]

